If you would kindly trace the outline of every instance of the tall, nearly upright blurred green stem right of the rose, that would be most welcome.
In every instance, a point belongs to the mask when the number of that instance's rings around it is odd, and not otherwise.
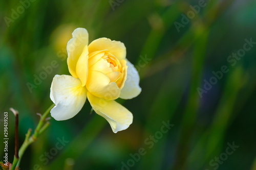
[[[206,44],[208,40],[208,30],[205,30],[203,26],[197,28],[195,30],[195,34],[200,38],[197,39],[195,42],[191,85],[189,89],[186,110],[181,123],[181,133],[179,137],[178,147],[176,150],[176,161],[174,164],[174,169],[179,170],[186,169],[189,143],[193,134],[200,101],[197,87],[200,87],[201,84]]]

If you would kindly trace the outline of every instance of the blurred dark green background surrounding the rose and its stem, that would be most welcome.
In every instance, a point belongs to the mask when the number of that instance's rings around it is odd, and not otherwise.
[[[87,101],[74,118],[50,120],[21,169],[256,169],[256,1],[1,0],[0,9],[0,160],[3,113],[12,162],[9,108],[20,113],[22,144],[38,123],[36,113],[52,104],[53,77],[70,75],[66,45],[82,27],[90,42],[107,37],[125,44],[142,92],[118,102],[133,113],[133,124],[114,134]],[[42,75],[53,61],[58,66]],[[220,73],[223,66],[228,71]],[[40,74],[44,80],[35,85]],[[173,125],[167,133],[163,122]],[[67,143],[56,150],[62,139]]]

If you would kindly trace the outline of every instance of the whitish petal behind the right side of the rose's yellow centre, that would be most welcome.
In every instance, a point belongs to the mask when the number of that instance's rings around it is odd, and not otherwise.
[[[126,65],[128,66],[127,79],[124,83],[123,88],[121,89],[119,98],[132,99],[139,95],[141,92],[141,88],[139,86],[140,77],[134,65],[127,59],[126,61]]]

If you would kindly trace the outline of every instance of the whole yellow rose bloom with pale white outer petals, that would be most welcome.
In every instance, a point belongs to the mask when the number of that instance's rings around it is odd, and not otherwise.
[[[114,133],[127,129],[132,113],[114,101],[140,94],[138,71],[126,57],[120,41],[99,38],[88,45],[88,32],[78,28],[68,42],[68,68],[71,76],[55,75],[50,98],[55,104],[51,115],[56,120],[74,117],[86,99],[94,111],[110,123]]]

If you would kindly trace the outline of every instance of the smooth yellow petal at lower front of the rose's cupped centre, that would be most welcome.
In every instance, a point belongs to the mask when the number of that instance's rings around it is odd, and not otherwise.
[[[106,100],[119,98],[120,89],[115,82],[100,71],[90,71],[86,87],[93,95]]]

